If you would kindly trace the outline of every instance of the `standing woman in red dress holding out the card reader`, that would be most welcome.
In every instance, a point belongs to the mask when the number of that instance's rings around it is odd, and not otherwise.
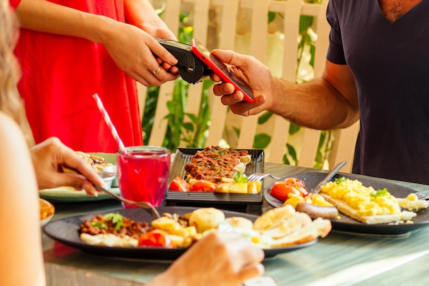
[[[116,152],[97,93],[125,145],[142,145],[136,80],[159,86],[178,76],[152,37],[175,36],[149,1],[11,2],[21,25],[18,88],[36,143],[57,136],[73,150]]]

